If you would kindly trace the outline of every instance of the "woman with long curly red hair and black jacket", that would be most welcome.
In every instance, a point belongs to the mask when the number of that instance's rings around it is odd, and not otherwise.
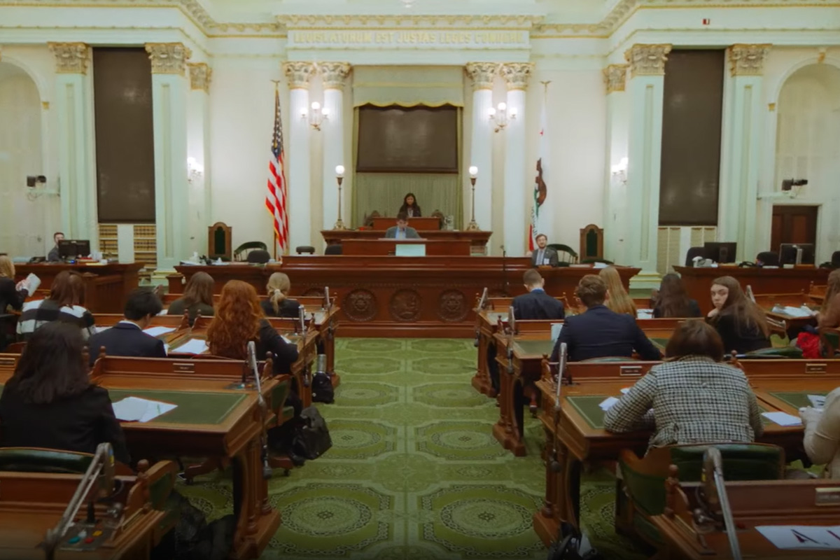
[[[247,359],[248,343],[256,343],[257,359],[270,352],[275,374],[288,374],[297,360],[297,345],[287,343],[265,320],[254,286],[230,280],[222,288],[216,315],[207,328],[210,353],[225,358]]]

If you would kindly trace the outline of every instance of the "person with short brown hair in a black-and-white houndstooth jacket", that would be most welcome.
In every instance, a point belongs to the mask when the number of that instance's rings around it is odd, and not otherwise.
[[[721,364],[723,343],[702,321],[686,321],[655,365],[604,416],[608,432],[654,430],[649,447],[753,442],[764,432],[743,371]],[[651,411],[653,409],[653,411]]]

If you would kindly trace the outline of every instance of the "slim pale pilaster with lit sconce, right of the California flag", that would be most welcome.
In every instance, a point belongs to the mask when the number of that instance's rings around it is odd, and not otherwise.
[[[626,64],[611,64],[604,69],[606,83],[606,170],[604,177],[604,258],[625,264],[625,247],[631,235],[627,231],[627,170],[622,160],[627,158],[627,130],[630,107],[625,92]]]

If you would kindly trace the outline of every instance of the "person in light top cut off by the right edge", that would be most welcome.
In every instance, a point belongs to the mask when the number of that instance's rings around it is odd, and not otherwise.
[[[840,387],[827,395],[822,411],[806,406],[799,415],[805,424],[805,452],[811,463],[826,465],[825,478],[840,479]]]

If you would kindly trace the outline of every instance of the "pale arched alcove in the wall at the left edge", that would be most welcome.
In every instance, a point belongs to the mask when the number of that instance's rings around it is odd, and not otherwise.
[[[0,251],[44,254],[45,201],[26,186],[43,171],[41,101],[29,74],[8,62],[0,62],[0,123]]]

